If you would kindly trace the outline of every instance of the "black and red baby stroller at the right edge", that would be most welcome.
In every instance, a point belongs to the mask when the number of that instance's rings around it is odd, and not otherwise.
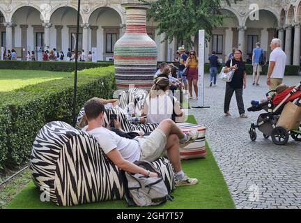
[[[281,112],[284,110],[288,102],[293,102],[294,105],[301,105],[301,82],[297,86],[290,87],[279,94],[269,97],[270,93],[276,92],[275,90],[266,93],[268,100],[261,102],[258,105],[253,105],[247,110],[249,112],[257,112],[262,109],[267,113],[260,114],[257,123],[252,123],[249,129],[249,136],[252,141],[256,140],[256,128],[263,132],[263,137],[268,139],[272,137],[272,141],[276,145],[285,145],[288,142],[289,136],[295,141],[301,141],[301,125],[299,121],[298,129],[287,130],[284,127],[277,126]],[[300,116],[300,114],[298,114]]]

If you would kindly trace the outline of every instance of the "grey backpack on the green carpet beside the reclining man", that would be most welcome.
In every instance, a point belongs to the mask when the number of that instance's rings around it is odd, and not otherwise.
[[[142,174],[130,174],[125,171],[125,176],[128,180],[128,188],[125,189],[128,189],[128,195],[130,195],[137,206],[157,206],[166,202],[167,198],[172,200],[160,171],[151,162],[145,160],[135,161],[134,164],[158,175],[158,178],[148,178]],[[128,202],[127,196],[125,199]]]

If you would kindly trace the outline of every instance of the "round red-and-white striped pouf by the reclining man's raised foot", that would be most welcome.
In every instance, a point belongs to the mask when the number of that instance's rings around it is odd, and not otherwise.
[[[192,130],[198,130],[199,137],[196,141],[187,145],[185,148],[180,148],[180,158],[182,160],[189,160],[194,158],[206,157],[206,143],[205,143],[205,133],[206,128],[201,125],[194,125],[191,123],[177,123],[180,130],[183,132],[189,132]]]

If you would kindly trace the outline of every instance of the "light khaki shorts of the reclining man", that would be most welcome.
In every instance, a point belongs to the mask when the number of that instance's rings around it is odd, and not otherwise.
[[[141,148],[140,160],[153,162],[162,156],[167,144],[167,137],[160,129],[155,129],[146,137],[135,137],[134,140],[139,142]]]

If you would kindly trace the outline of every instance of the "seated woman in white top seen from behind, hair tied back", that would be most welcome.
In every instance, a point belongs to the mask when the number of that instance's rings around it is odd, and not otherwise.
[[[172,93],[170,94],[172,95]],[[150,93],[146,97],[142,116],[147,115],[148,123],[161,123],[166,118],[172,118],[173,111],[175,116],[183,119],[184,113],[180,109],[180,103],[169,95],[169,79],[167,77],[157,77]],[[183,120],[178,120],[183,121]]]

